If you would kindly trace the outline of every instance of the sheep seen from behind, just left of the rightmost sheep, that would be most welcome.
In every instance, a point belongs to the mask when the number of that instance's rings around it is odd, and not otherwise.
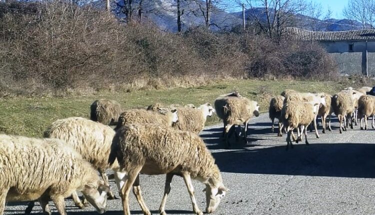
[[[331,105],[334,114],[338,117],[340,122],[340,133],[342,133],[342,128],[346,131],[345,116],[350,117],[354,109],[353,100],[349,93],[339,92],[332,96]]]

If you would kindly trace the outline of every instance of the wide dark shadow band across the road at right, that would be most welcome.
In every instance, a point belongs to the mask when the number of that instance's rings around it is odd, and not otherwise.
[[[212,152],[223,172],[375,178],[375,145],[313,143]]]

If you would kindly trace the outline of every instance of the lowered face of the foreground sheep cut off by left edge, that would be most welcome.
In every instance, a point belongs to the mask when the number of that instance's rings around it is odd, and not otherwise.
[[[104,185],[102,180],[97,180],[97,183],[88,183],[84,185],[82,193],[84,197],[94,206],[98,213],[104,213],[107,206],[107,192],[109,186]]]

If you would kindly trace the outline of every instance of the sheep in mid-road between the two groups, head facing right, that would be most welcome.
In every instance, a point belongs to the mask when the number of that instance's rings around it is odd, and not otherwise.
[[[233,94],[233,93],[231,93]],[[224,122],[224,135],[226,146],[230,146],[228,137],[234,132],[233,125],[244,124],[244,143],[247,143],[247,123],[255,115],[259,116],[259,104],[245,97],[226,94],[215,99],[214,106],[217,116]],[[232,128],[233,129],[230,129]],[[229,132],[231,130],[231,132]]]

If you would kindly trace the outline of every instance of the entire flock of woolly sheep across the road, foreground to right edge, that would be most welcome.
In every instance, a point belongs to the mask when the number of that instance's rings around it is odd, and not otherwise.
[[[332,112],[340,121],[340,132],[349,125],[352,127],[353,121],[356,124],[358,117],[362,128],[362,117],[366,122],[368,116],[375,114],[375,96],[366,95],[369,90],[369,87],[347,88],[333,96],[285,90],[270,101],[272,130],[274,118],[278,118],[278,135],[283,130],[287,132],[287,147],[292,147],[290,136],[296,142],[301,141],[302,133],[306,138],[311,122],[319,137],[318,115],[323,132],[327,116],[331,130]],[[40,202],[44,213],[50,214],[48,201],[52,200],[58,212],[66,214],[64,198],[69,195],[78,207],[83,208],[89,202],[103,213],[107,198],[115,198],[109,188],[108,168],[114,171],[124,214],[130,214],[131,188],[143,213],[151,214],[141,195],[139,173],[166,174],[160,214],[166,214],[164,205],[173,175],[183,177],[196,214],[203,213],[196,203],[191,179],[205,184],[205,211],[214,212],[228,189],[211,153],[198,136],[207,116],[214,112],[223,120],[223,135],[230,146],[232,133],[238,140],[235,125],[245,125],[243,139],[247,142],[247,123],[252,116],[259,115],[259,104],[238,92],[220,95],[214,101],[214,108],[209,103],[198,107],[153,104],[144,109],[124,110],[116,101],[100,99],[91,104],[90,119],[58,119],[45,129],[44,138],[0,134],[0,215],[6,201],[29,201],[26,213],[30,213],[34,200]],[[305,142],[308,144],[307,138]],[[82,200],[76,191],[83,193]]]

